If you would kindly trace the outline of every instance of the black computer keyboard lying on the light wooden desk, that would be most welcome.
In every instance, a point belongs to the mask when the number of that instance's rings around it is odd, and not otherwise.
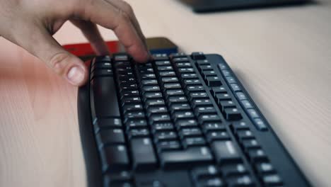
[[[310,186],[220,55],[95,57],[79,89],[89,186]]]

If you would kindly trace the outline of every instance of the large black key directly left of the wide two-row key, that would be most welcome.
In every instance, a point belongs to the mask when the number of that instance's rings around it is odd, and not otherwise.
[[[157,166],[156,155],[151,139],[134,138],[130,141],[132,148],[132,164],[136,171],[155,169]]]

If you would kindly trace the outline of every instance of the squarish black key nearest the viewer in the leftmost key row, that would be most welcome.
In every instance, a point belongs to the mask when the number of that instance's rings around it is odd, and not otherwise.
[[[124,145],[109,145],[100,152],[103,172],[122,171],[129,169],[129,157]]]

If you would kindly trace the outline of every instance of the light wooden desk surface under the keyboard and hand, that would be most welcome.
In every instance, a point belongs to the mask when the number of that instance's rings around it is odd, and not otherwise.
[[[178,1],[129,2],[146,36],[222,54],[308,179],[330,186],[330,1],[199,15]],[[86,41],[69,23],[55,38]],[[19,47],[0,46],[0,186],[85,186],[76,88]]]

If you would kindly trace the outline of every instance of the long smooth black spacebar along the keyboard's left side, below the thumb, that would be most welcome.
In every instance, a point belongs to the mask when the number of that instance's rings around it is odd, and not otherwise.
[[[91,81],[91,106],[96,117],[120,117],[116,85],[112,77],[96,77]],[[93,107],[94,106],[94,107]]]

